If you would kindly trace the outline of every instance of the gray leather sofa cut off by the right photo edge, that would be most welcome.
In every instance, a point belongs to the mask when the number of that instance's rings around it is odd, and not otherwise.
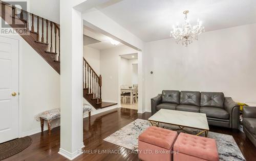
[[[243,130],[256,147],[256,107],[243,107]]]

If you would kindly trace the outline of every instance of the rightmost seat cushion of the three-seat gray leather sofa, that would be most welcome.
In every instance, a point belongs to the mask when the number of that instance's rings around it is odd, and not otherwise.
[[[229,119],[228,112],[222,108],[201,107],[200,113],[206,114],[207,117],[219,118],[219,119]]]

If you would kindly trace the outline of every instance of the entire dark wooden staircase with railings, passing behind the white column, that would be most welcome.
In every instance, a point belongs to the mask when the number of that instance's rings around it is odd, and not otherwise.
[[[18,29],[19,32],[17,33],[60,74],[59,24],[5,2],[0,1],[0,4],[2,9],[0,16],[13,29]],[[102,109],[117,104],[102,102],[101,87],[101,75],[98,75],[86,59],[83,58],[83,97],[95,109]]]

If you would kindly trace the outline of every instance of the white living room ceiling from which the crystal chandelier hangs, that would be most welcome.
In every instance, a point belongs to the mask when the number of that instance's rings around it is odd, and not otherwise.
[[[169,38],[173,24],[202,20],[205,31],[256,22],[255,0],[112,0],[97,9],[141,40]]]

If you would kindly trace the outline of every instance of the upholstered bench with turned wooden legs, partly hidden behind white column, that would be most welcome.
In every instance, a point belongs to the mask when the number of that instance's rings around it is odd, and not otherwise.
[[[89,104],[83,104],[83,114],[89,112],[89,120],[91,120],[91,111],[92,108]],[[49,135],[51,135],[51,122],[52,120],[60,118],[60,108],[44,111],[38,114],[37,118],[39,118],[41,122],[41,132],[44,131],[44,121],[47,121]]]

